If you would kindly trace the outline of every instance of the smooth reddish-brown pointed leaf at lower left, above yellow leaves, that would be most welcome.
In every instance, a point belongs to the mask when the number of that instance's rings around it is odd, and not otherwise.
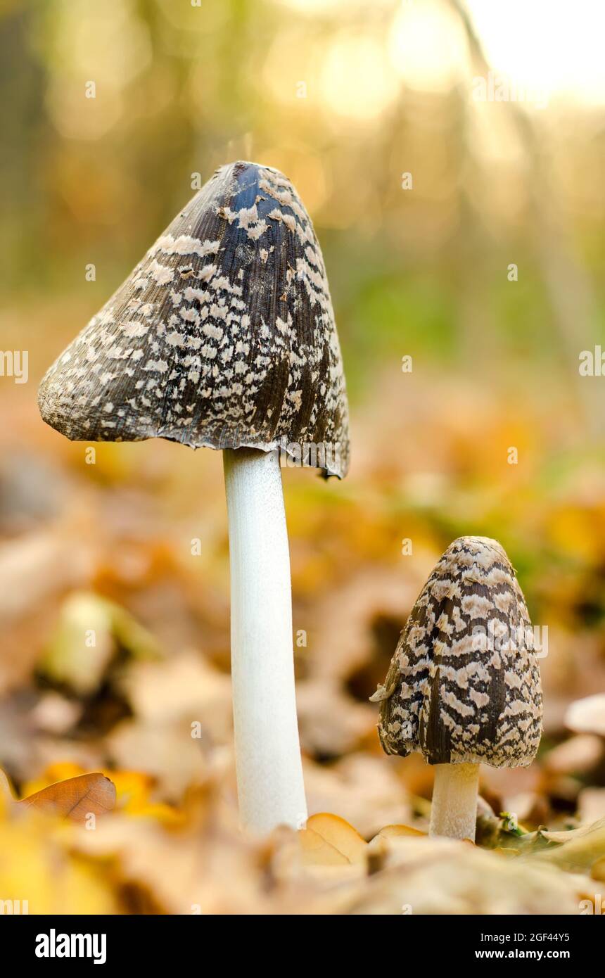
[[[19,805],[83,823],[90,815],[105,815],[115,805],[115,785],[100,773],[57,781],[22,798]]]

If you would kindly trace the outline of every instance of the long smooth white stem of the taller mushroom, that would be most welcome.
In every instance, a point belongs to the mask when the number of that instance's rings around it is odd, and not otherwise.
[[[231,669],[242,827],[307,819],[292,649],[290,557],[278,452],[223,452],[231,559]]]

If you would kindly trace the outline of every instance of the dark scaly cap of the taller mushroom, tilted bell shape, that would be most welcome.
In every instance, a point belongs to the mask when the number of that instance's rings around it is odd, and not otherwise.
[[[346,474],[342,359],[313,224],[269,166],[221,166],[38,393],[75,441],[282,447]]]

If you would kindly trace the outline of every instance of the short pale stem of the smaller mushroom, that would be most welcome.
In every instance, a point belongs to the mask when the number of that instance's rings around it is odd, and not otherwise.
[[[436,764],[429,835],[475,841],[478,764]]]

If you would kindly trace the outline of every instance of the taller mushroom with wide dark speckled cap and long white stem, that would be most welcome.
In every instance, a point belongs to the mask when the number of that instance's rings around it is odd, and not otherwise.
[[[279,454],[342,478],[349,443],[324,259],[289,180],[220,167],[50,368],[38,403],[73,440],[223,450],[240,821],[300,826]]]

